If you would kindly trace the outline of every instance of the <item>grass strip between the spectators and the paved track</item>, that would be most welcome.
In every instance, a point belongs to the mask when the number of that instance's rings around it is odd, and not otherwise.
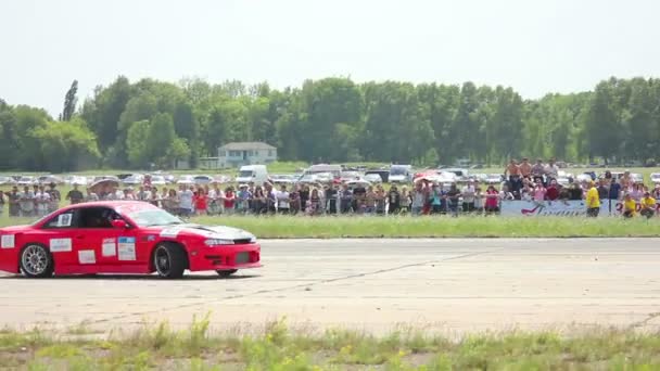
[[[29,221],[1,218],[0,226]],[[214,216],[190,221],[237,227],[261,239],[660,236],[660,218]]]

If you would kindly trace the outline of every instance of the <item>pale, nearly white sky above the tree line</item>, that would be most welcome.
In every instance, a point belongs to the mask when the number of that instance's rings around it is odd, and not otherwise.
[[[511,86],[524,98],[660,76],[652,0],[7,0],[0,98],[56,115],[118,75]]]

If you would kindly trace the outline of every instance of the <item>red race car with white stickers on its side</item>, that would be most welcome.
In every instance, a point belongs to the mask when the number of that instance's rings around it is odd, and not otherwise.
[[[256,238],[229,227],[187,223],[145,202],[72,205],[30,226],[0,229],[0,270],[26,277],[153,273],[223,277],[257,268]]]

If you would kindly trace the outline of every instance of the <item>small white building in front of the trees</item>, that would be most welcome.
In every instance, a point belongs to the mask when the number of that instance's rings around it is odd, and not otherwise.
[[[218,148],[218,166],[265,165],[277,161],[277,148],[262,142],[233,142]]]

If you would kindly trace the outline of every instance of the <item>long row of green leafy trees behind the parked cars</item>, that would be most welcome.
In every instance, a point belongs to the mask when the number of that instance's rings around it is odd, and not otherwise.
[[[160,168],[263,141],[282,161],[449,164],[470,158],[660,158],[660,80],[617,79],[593,91],[524,100],[512,88],[350,78],[268,84],[178,84],[118,77],[58,119],[0,100],[0,167],[65,171]]]

